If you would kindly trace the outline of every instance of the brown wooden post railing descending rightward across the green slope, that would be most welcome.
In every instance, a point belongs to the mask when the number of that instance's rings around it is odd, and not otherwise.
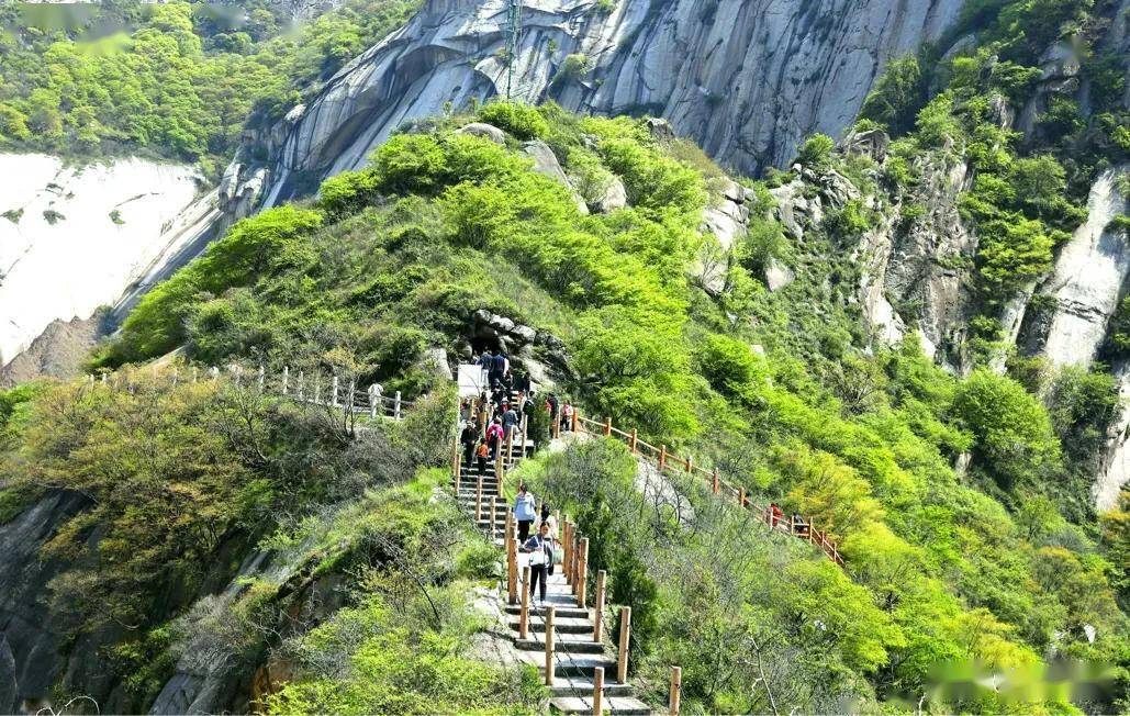
[[[718,495],[722,490],[730,494],[732,497],[737,497],[739,504],[744,509],[749,509],[751,513],[760,515],[760,518],[768,524],[771,530],[776,530],[796,536],[798,539],[806,540],[810,544],[818,547],[824,555],[831,559],[836,565],[841,567],[844,566],[843,555],[840,553],[838,545],[828,539],[827,531],[820,531],[816,529],[815,521],[811,516],[807,521],[794,521],[792,517],[780,516],[775,517],[772,509],[768,506],[755,505],[750,500],[746,499],[745,488],[739,488],[730,482],[723,480],[718,470],[706,470],[702,465],[696,465],[690,456],[679,457],[678,455],[668,452],[666,445],[660,445],[655,447],[645,443],[638,437],[636,437],[636,430],[627,433],[623,429],[612,426],[611,418],[605,418],[603,421],[593,420],[591,418],[585,418],[580,414],[580,412],[574,407],[573,412],[573,427],[577,433],[585,434],[599,434],[607,437],[615,437],[620,442],[626,442],[628,448],[634,455],[640,455],[645,460],[654,461],[657,468],[662,472],[663,470],[678,468],[681,472],[689,474],[702,475],[706,478],[711,483],[712,491]],[[597,428],[597,430],[590,430],[589,427]],[[651,454],[658,454],[657,457],[652,457]]]

